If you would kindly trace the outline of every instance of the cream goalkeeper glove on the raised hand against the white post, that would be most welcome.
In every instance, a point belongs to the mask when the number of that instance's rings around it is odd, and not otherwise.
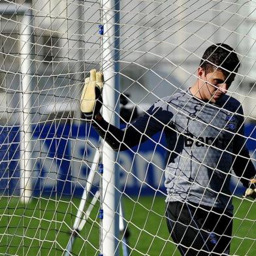
[[[90,76],[84,82],[84,89],[80,100],[80,109],[86,120],[92,120],[101,110],[103,104],[101,95],[103,84],[103,73],[92,69]]]

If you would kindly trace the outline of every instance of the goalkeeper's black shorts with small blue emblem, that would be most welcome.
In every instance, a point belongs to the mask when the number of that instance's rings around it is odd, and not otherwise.
[[[182,255],[229,255],[232,214],[221,209],[167,203],[167,226]]]

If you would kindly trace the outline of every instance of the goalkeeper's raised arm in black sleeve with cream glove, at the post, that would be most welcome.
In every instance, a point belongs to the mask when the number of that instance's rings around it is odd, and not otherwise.
[[[100,114],[103,104],[101,97],[103,84],[103,74],[95,70],[90,71],[90,77],[86,78],[82,91],[80,109],[84,119],[91,121],[95,130],[113,150],[126,150],[136,146],[157,133],[159,129],[163,129],[163,125],[157,119],[161,113],[157,109],[155,110],[154,106],[125,130],[106,122]]]

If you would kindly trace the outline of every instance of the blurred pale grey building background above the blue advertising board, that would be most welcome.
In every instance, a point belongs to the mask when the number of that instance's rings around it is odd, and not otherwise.
[[[11,4],[0,3],[3,10]],[[99,1],[12,3],[32,10],[28,47],[37,120],[56,112],[79,114],[75,101],[84,76],[90,69],[100,68],[102,61]],[[231,95],[242,102],[247,121],[255,120],[255,16],[253,1],[121,1],[120,93],[129,93],[129,103],[144,109],[176,89],[188,88],[195,81],[204,50],[225,42],[236,50],[242,63]],[[18,120],[22,19],[24,15],[15,13],[1,16],[3,124]]]

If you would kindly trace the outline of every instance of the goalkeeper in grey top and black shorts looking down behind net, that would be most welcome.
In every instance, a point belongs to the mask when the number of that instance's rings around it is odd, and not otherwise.
[[[195,84],[157,101],[124,130],[107,123],[99,113],[103,74],[93,70],[86,78],[81,98],[84,118],[114,150],[126,150],[164,131],[167,227],[182,255],[229,255],[231,169],[246,187],[245,197],[256,196],[242,106],[226,95],[239,67],[230,46],[210,46],[200,61]]]

